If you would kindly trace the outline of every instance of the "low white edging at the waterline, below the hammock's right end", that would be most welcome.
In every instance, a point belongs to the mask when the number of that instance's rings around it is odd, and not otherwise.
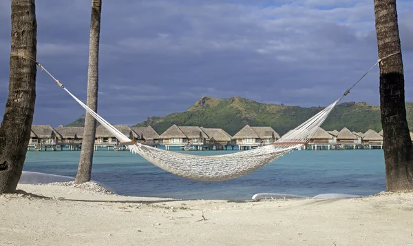
[[[305,198],[337,199],[337,198],[356,198],[356,197],[362,197],[362,196],[352,195],[352,194],[341,194],[341,193],[327,193],[327,194],[319,194],[317,196],[309,197],[309,196],[298,196],[298,195],[282,194],[282,193],[257,193],[253,196],[253,200],[259,201],[262,199],[305,199]]]

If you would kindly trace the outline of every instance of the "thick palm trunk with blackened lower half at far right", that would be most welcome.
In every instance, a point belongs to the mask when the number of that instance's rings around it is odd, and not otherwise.
[[[374,0],[374,16],[379,58],[401,52],[396,0]],[[413,150],[406,120],[401,53],[380,63],[380,110],[387,189],[412,190]]]

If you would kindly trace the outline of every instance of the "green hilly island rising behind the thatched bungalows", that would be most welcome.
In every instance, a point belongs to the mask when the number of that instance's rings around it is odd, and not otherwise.
[[[239,96],[216,99],[202,96],[185,112],[166,116],[151,116],[134,126],[151,125],[157,132],[165,132],[171,125],[203,126],[222,128],[233,135],[246,124],[251,126],[271,126],[279,134],[285,134],[309,119],[324,107],[299,107],[258,103]],[[413,129],[413,103],[406,103],[407,122]],[[81,116],[66,126],[84,126],[85,116]],[[381,131],[380,107],[367,103],[346,102],[336,106],[322,127],[325,130],[339,130],[348,127],[355,132],[372,129]]]

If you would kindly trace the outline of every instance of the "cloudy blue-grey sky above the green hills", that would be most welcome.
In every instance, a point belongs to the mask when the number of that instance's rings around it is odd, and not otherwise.
[[[90,4],[37,0],[37,59],[85,100]],[[398,0],[406,101],[413,101],[413,2]],[[0,2],[0,114],[10,1]],[[117,124],[183,112],[201,96],[328,105],[377,61],[372,0],[103,0],[98,112]],[[346,101],[379,104],[374,69]],[[34,123],[84,110],[38,71]]]

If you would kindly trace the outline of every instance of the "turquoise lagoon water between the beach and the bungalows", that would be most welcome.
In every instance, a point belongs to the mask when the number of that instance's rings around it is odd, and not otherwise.
[[[74,177],[79,155],[80,151],[28,152],[23,170]],[[382,150],[295,151],[251,174],[221,182],[192,181],[169,174],[129,151],[98,151],[94,154],[92,180],[126,196],[180,199],[251,199],[261,192],[366,196],[385,189]]]

